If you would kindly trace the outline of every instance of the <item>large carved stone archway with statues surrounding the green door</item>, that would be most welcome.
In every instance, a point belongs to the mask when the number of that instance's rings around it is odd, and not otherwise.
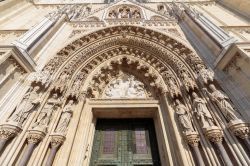
[[[210,101],[210,92],[202,91],[202,88],[208,88],[212,83],[218,87],[213,73],[206,69],[192,49],[178,39],[142,27],[117,26],[98,30],[75,40],[59,51],[42,71],[36,73],[26,94],[31,94],[32,99],[39,99],[36,107],[30,107],[36,112],[32,115],[25,114],[22,121],[17,122],[15,119],[18,118],[13,118],[19,116],[15,109],[2,126],[2,133],[6,133],[5,140],[16,137],[19,132],[22,132],[24,141],[28,140],[27,148],[20,148],[20,154],[26,155],[21,157],[20,162],[27,163],[30,158],[27,154],[31,155],[35,149],[33,144],[39,144],[32,155],[40,154],[39,161],[51,163],[63,144],[55,163],[76,161],[77,164],[88,164],[95,119],[98,118],[93,110],[98,104],[101,105],[99,101],[107,101],[103,98],[105,89],[112,84],[112,80],[120,78],[119,73],[129,76],[129,79],[124,80],[130,83],[137,81],[133,86],[128,86],[126,82],[128,88],[134,88],[132,92],[143,90],[147,93],[138,105],[142,107],[151,100],[158,110],[152,117],[157,119],[161,131],[158,133],[164,152],[161,160],[165,158],[168,164],[185,165],[186,161],[194,164],[194,158],[197,158],[202,163],[199,153],[201,150],[205,151],[204,156],[207,159],[216,156],[207,146],[211,147],[209,140],[221,145],[223,135],[219,126],[226,129],[220,122],[222,120],[226,123],[228,119],[223,117],[219,112],[220,108]],[[39,90],[36,87],[39,87]],[[198,95],[192,96],[193,92]],[[204,132],[201,127],[204,119],[201,121],[192,111],[196,109],[193,105],[195,99],[197,102],[202,101],[203,108],[210,110],[206,114],[213,119],[210,124],[214,126],[209,126],[212,129],[208,128],[208,132]],[[21,103],[30,104],[30,100],[24,97]],[[138,106],[122,98],[118,101],[126,102],[131,107]],[[206,102],[209,102],[209,106],[204,104]],[[107,103],[105,104],[107,107]],[[176,116],[175,109],[178,107],[185,110],[184,116],[188,116],[191,122],[189,126],[183,125],[183,121]],[[243,122],[238,124],[245,125]],[[234,132],[236,135],[242,134],[237,125],[230,127],[237,131]],[[246,126],[243,127],[247,129]],[[182,139],[182,135],[187,141]],[[203,139],[201,150],[197,149],[199,135]],[[205,139],[206,137],[208,139]],[[83,140],[86,142],[81,142]],[[84,143],[81,147],[78,146],[79,141]],[[5,143],[6,141],[3,142]],[[188,144],[191,146],[187,146]],[[75,154],[72,148],[82,148],[79,149],[81,153]],[[194,149],[196,153],[191,154],[189,148]],[[17,158],[18,154],[15,157]],[[218,160],[216,158],[215,163]]]

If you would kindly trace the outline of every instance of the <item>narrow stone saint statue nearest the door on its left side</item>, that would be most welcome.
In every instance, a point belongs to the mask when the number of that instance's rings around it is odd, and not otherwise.
[[[68,104],[63,108],[61,118],[56,128],[56,133],[65,134],[73,113],[73,100],[69,100]]]

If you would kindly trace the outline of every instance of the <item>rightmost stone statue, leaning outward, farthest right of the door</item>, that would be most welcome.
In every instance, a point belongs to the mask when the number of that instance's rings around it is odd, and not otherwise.
[[[216,89],[213,84],[210,84],[209,88],[212,90],[212,93],[209,93],[206,88],[204,88],[203,90],[210,96],[212,101],[216,102],[226,119],[228,121],[240,119],[239,113],[236,112],[232,105],[229,103],[230,99],[228,98],[228,96],[222,91]]]

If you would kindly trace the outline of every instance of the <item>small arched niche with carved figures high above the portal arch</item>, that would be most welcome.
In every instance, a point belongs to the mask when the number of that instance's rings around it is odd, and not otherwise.
[[[108,10],[107,19],[141,19],[142,10],[134,5],[116,5]]]

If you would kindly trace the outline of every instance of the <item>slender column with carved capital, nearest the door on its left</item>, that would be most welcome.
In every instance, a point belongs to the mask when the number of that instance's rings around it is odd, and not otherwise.
[[[50,142],[51,150],[50,150],[48,159],[45,164],[46,166],[51,166],[53,164],[56,153],[59,147],[63,144],[64,140],[65,140],[65,137],[63,135],[52,135],[52,139]]]

